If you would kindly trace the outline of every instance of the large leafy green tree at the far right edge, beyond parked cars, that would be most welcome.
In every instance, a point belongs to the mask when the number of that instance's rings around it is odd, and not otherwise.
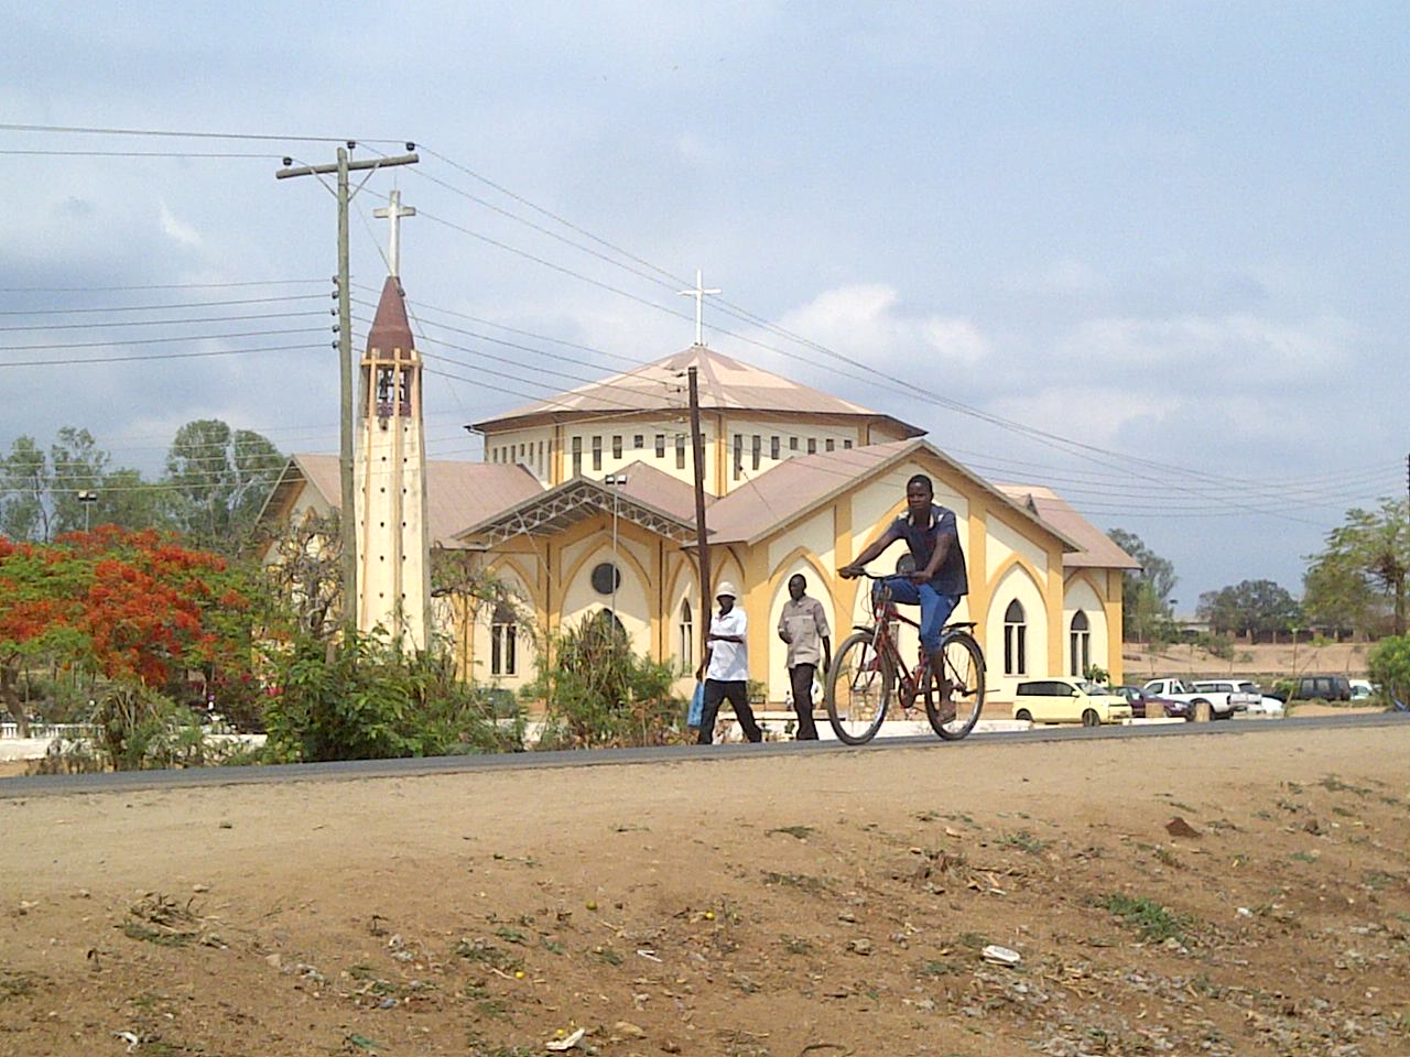
[[[1327,533],[1327,545],[1307,555],[1303,607],[1314,623],[1348,622],[1369,634],[1376,610],[1389,609],[1394,634],[1406,633],[1407,513],[1407,505],[1393,499],[1380,500],[1376,510],[1354,507]]]

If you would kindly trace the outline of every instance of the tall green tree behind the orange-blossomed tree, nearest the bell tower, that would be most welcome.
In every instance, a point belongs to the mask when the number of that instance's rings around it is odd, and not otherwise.
[[[285,458],[252,430],[219,419],[189,421],[166,452],[173,521],[192,543],[226,554],[248,541]]]

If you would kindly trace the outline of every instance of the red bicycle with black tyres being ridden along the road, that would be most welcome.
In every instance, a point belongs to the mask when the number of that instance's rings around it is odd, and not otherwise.
[[[885,581],[863,572],[870,581]],[[894,624],[900,620],[919,631],[919,623],[902,616],[883,588],[873,592],[871,626],[856,624],[828,671],[828,722],[838,740],[863,746],[885,722],[891,695],[900,691],[901,707],[909,710],[919,696],[931,729],[946,741],[959,741],[974,729],[984,707],[984,651],[970,633],[973,620],[946,624],[940,631],[945,658],[940,692],[936,692],[931,658],[921,647],[915,668],[907,667],[897,644]],[[948,684],[948,692],[945,688]],[[955,710],[946,707],[953,705]]]

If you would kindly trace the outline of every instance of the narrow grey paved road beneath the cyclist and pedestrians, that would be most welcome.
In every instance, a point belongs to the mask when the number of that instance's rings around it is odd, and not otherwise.
[[[1021,750],[1035,741],[1080,741],[1131,737],[1255,737],[1296,736],[1299,730],[1328,727],[1404,727],[1407,713],[1316,716],[1282,720],[1232,720],[1225,723],[1172,723],[1114,727],[1035,727],[940,741],[933,736],[877,738],[869,746],[850,747],[838,741],[767,741],[759,746],[666,746],[654,748],[601,748],[564,753],[505,753],[499,755],[451,755],[420,760],[347,760],[334,764],[286,764],[282,767],[204,767],[189,771],[124,771],[118,774],[42,775],[0,778],[0,799],[52,793],[125,792],[257,782],[329,781],[351,778],[406,778],[471,771],[539,769],[550,767],[619,767],[626,764],[730,760],[739,755],[783,755],[787,753],[890,753],[898,748],[926,748],[935,753],[963,753],[969,746],[1005,746]]]

